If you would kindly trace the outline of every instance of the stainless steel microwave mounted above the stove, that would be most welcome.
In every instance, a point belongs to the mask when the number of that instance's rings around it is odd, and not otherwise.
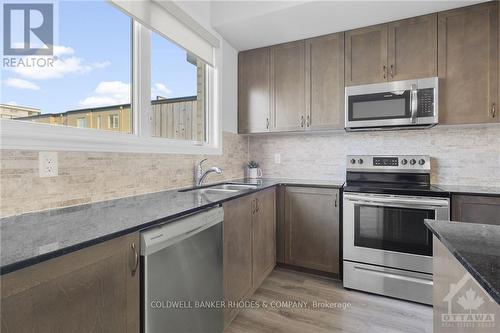
[[[345,88],[345,129],[427,128],[438,123],[438,78]]]

